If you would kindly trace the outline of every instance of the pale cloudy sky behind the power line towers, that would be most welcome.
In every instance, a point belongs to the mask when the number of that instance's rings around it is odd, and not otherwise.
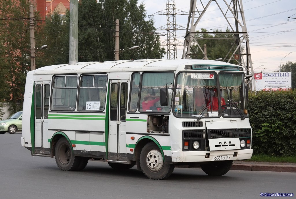
[[[201,0],[206,5],[209,0]],[[167,0],[139,0],[145,4],[148,19],[153,18],[155,27],[166,27],[165,15],[157,15],[159,11],[166,13]],[[222,0],[218,4],[225,8]],[[229,4],[231,0],[226,0]],[[198,5],[199,4],[199,5]],[[175,0],[177,10],[189,12],[190,0]],[[201,6],[197,0],[197,6]],[[280,69],[280,64],[287,61],[296,62],[296,0],[243,0],[245,22],[249,36],[250,53],[254,72],[273,72]],[[178,11],[177,11],[178,12]],[[288,22],[288,17],[289,22]],[[186,29],[188,14],[176,15],[176,24]],[[225,30],[229,27],[217,4],[212,2],[206,10],[197,30],[205,28]],[[160,33],[161,41],[166,40],[166,31]],[[177,30],[177,41],[184,43],[186,30]],[[177,59],[182,58],[183,46],[177,46]],[[292,52],[292,53],[290,53]],[[166,55],[164,59],[166,59]]]

